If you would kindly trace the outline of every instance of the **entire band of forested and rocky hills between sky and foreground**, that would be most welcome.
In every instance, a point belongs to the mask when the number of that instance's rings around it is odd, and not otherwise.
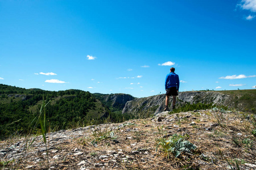
[[[0,84],[0,139],[38,133],[46,111],[49,131],[71,129],[106,121],[147,118],[163,111],[165,95],[135,98],[127,94],[90,94],[81,90],[44,91]],[[44,99],[44,100],[43,100]],[[195,104],[196,108],[189,104]],[[256,90],[180,92],[172,112],[224,107],[255,113]],[[200,106],[200,107],[197,107]],[[189,108],[189,109],[184,109]]]

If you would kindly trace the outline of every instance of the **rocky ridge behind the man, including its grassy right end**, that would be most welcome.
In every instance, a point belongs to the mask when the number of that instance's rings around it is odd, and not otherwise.
[[[164,99],[164,94],[134,99],[126,103],[122,113],[156,115],[163,111]],[[179,92],[176,99],[176,108],[184,108],[187,104],[200,103],[256,113],[256,90]]]

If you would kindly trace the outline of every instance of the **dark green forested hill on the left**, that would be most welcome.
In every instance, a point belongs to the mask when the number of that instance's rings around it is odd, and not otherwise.
[[[0,84],[0,138],[38,133],[40,108],[45,107],[47,130],[78,128],[106,120],[120,122],[133,118],[102,103],[100,96],[81,90],[44,91]],[[114,111],[114,112],[113,112]]]

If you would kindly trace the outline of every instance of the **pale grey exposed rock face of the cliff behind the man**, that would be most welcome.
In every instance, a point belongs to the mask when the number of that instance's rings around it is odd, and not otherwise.
[[[148,114],[159,114],[163,111],[165,105],[165,95],[156,95],[150,97],[143,97],[139,99],[134,99],[127,101],[122,113],[148,113]],[[170,103],[172,97],[170,97]],[[170,104],[169,103],[169,104]],[[176,99],[176,105],[182,106],[185,103],[203,103],[203,104],[215,104],[224,105],[229,108],[235,108],[236,104],[234,102],[234,96],[223,94],[221,92],[214,91],[188,91],[179,92]]]

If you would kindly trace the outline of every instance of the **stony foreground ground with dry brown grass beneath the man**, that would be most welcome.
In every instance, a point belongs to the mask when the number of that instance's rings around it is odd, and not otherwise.
[[[0,142],[1,169],[256,169],[255,115],[212,109],[13,137]],[[256,130],[255,130],[256,133]],[[167,139],[196,146],[177,158]],[[256,135],[256,134],[255,134]],[[162,141],[162,142],[161,142]]]

